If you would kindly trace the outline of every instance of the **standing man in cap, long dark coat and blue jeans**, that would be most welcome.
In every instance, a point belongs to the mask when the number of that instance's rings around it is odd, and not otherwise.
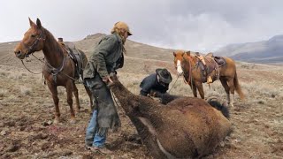
[[[104,145],[106,134],[109,128],[118,128],[120,121],[107,84],[112,82],[110,73],[117,73],[116,70],[123,67],[124,44],[129,35],[132,34],[126,23],[117,22],[111,34],[98,43],[83,72],[84,81],[92,92],[95,104],[85,138],[86,146],[91,151],[111,154]]]

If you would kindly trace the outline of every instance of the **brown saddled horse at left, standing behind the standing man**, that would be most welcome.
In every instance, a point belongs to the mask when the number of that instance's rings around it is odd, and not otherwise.
[[[44,27],[40,19],[36,20],[36,24],[29,19],[30,28],[24,34],[24,38],[14,49],[16,57],[24,59],[35,51],[42,50],[44,54],[44,65],[42,73],[50,92],[52,94],[53,102],[55,104],[55,119],[54,123],[59,122],[60,110],[58,107],[59,98],[57,96],[57,86],[64,86],[67,93],[67,102],[71,111],[71,123],[75,122],[75,115],[73,111],[73,95],[76,100],[76,109],[80,110],[80,102],[78,95],[78,88],[74,84],[75,77],[75,63],[68,55],[67,49],[61,43],[57,42],[54,36]],[[82,68],[87,64],[88,59],[86,55],[80,50],[82,57]],[[80,71],[82,75],[82,71]],[[90,98],[90,107],[92,107],[91,92],[88,87],[85,87]]]

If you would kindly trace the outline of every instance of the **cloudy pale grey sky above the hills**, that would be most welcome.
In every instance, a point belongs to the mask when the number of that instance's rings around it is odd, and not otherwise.
[[[213,51],[283,34],[282,6],[282,0],[1,0],[0,42],[21,40],[28,17],[65,41],[109,34],[121,20],[135,42]]]

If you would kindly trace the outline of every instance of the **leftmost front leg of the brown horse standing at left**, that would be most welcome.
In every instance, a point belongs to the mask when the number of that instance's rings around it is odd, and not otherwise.
[[[53,123],[57,124],[60,122],[60,110],[59,110],[59,98],[57,93],[57,86],[52,85],[50,82],[47,82],[47,86],[50,88],[50,92],[52,94],[54,106],[55,106],[55,118]]]

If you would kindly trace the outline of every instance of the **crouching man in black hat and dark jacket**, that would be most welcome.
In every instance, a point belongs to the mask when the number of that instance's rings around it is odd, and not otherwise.
[[[148,77],[142,79],[140,95],[155,96],[156,93],[165,94],[171,81],[171,73],[168,72],[167,69],[159,68],[156,70],[156,73],[152,73]]]

